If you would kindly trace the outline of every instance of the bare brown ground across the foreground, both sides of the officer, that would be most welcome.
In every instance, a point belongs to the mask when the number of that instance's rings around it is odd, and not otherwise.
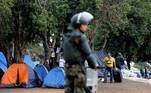
[[[64,93],[63,89],[0,89],[0,93]],[[151,93],[151,85],[125,80],[123,83],[99,83],[98,93]]]

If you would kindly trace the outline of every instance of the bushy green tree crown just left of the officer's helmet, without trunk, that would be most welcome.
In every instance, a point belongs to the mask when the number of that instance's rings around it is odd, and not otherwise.
[[[62,29],[65,28],[66,16],[69,11],[67,0],[44,1],[42,3],[40,0],[36,0],[32,4],[34,30],[40,32],[46,31],[50,34],[61,33]]]

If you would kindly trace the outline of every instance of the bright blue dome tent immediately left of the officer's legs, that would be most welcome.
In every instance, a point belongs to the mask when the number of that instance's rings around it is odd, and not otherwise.
[[[44,79],[44,87],[63,88],[65,85],[65,74],[62,68],[52,69]]]

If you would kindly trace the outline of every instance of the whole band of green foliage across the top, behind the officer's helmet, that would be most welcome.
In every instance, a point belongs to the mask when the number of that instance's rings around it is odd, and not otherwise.
[[[151,55],[150,10],[150,0],[0,0],[0,36],[20,38],[24,46],[29,41],[40,42],[39,33],[47,39],[54,34],[59,45],[70,18],[88,11],[95,16],[88,35],[96,50],[105,46],[142,59]]]

